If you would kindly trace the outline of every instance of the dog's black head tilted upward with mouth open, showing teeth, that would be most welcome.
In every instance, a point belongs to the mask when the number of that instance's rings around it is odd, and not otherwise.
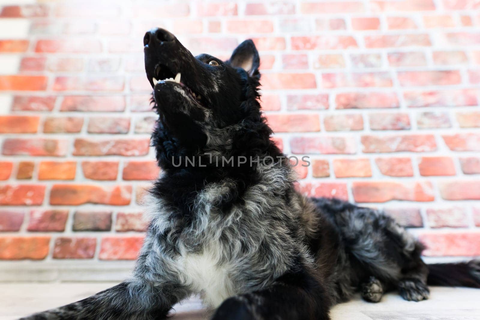
[[[171,156],[238,149],[239,139],[250,138],[253,149],[255,140],[270,144],[257,101],[260,58],[252,40],[222,61],[194,57],[170,32],[153,29],[144,36],[144,55],[159,114],[153,143],[161,166]]]

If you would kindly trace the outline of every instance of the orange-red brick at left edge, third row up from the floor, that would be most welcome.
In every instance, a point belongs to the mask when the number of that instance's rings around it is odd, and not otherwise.
[[[0,186],[0,205],[41,205],[45,186],[20,184]]]

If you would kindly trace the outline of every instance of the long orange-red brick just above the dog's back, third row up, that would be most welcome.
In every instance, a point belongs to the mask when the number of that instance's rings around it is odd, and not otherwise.
[[[433,201],[432,184],[425,182],[364,181],[352,185],[356,202]]]

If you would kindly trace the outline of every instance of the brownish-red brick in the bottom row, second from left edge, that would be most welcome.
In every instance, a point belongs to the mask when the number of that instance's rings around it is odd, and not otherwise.
[[[92,259],[95,256],[96,238],[58,237],[55,239],[53,259]]]

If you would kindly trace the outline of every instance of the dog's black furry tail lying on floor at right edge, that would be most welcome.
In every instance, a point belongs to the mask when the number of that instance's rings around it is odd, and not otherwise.
[[[428,265],[427,284],[480,288],[480,260]]]

